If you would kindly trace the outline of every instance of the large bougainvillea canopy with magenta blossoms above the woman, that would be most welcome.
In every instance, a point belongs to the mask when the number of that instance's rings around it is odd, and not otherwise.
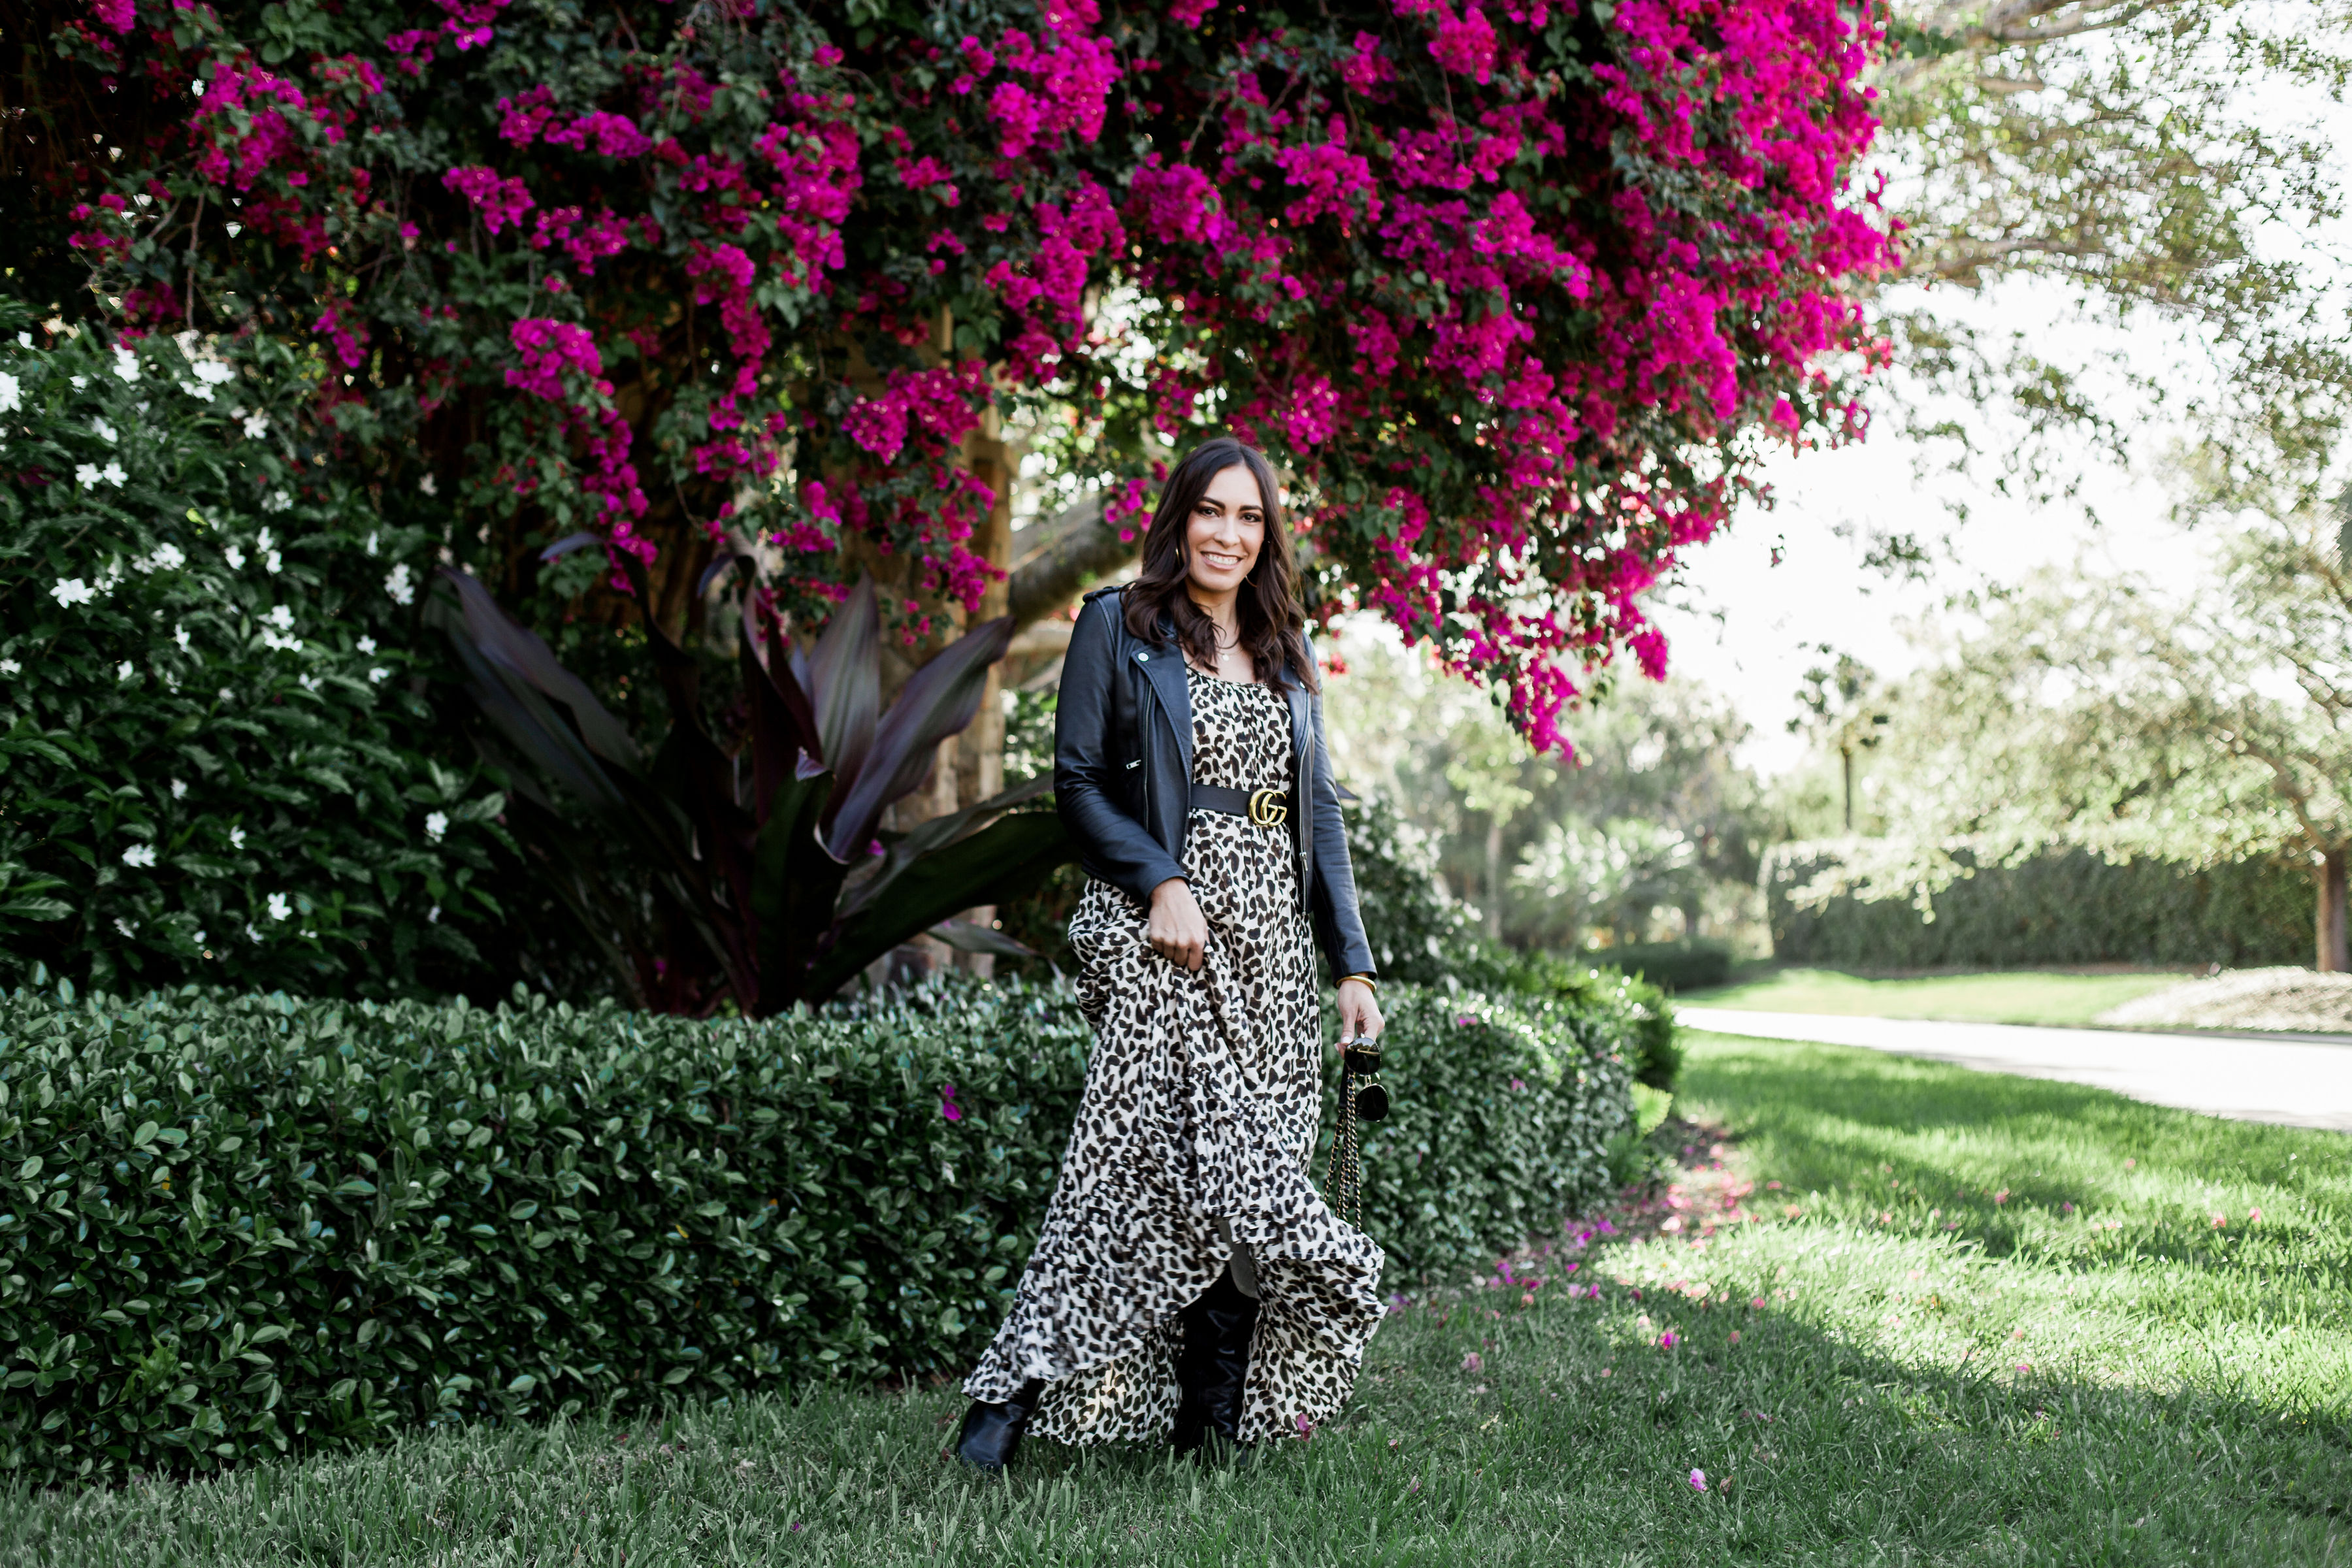
[[[1764,440],[1856,428],[1875,21],[1839,0],[94,0],[49,7],[28,277],[120,331],[301,336],[315,456],[522,602],[971,607],[960,454],[1054,397],[1282,458],[1331,607],[1538,743]],[[593,557],[574,557],[593,559]]]

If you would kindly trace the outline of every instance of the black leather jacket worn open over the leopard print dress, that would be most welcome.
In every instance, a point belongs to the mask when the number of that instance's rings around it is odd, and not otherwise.
[[[1077,839],[1077,863],[1141,903],[1169,877],[1188,875],[1192,698],[1176,635],[1162,630],[1164,642],[1131,635],[1117,588],[1087,595],[1054,710],[1054,802]],[[1334,978],[1369,976],[1371,943],[1355,905],[1322,698],[1296,679],[1279,691],[1291,705],[1291,799],[1305,802],[1291,811],[1291,844],[1308,919]]]

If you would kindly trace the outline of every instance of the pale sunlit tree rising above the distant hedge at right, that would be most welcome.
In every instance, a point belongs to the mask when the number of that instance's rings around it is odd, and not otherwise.
[[[2241,512],[2213,559],[2187,602],[2136,576],[2053,571],[1985,604],[1905,682],[1889,835],[1839,875],[1931,903],[1973,865],[2051,846],[2190,867],[2277,858],[2312,870],[2314,964],[2347,969],[2340,517]]]

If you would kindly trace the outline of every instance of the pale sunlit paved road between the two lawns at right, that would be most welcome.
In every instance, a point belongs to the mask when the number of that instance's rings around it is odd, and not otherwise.
[[[2154,1034],[2140,1030],[2044,1030],[2018,1023],[1929,1023],[1675,1009],[1691,1030],[1755,1039],[1818,1039],[1898,1056],[1926,1056],[1980,1072],[2096,1084],[2152,1105],[2239,1121],[2326,1126],[2352,1133],[2352,1044]]]

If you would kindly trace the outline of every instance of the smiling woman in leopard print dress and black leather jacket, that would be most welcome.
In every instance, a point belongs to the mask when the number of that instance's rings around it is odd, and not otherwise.
[[[1087,597],[1061,672],[1054,792],[1096,1044],[1011,1316],[964,1380],[957,1455],[1310,1432],[1381,1321],[1381,1248],[1308,1180],[1315,943],[1341,1041],[1374,1039],[1371,947],[1324,750],[1298,569],[1265,458],[1197,447],[1143,571]]]

